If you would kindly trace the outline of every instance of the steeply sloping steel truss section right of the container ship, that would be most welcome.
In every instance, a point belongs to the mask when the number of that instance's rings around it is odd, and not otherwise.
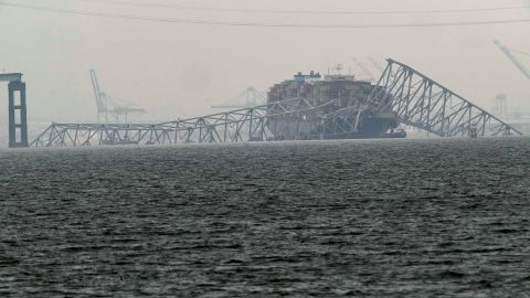
[[[391,106],[401,123],[441,137],[522,135],[483,108],[412,67],[388,60],[386,68],[367,105]]]

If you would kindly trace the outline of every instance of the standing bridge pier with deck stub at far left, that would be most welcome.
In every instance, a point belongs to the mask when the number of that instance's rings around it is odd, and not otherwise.
[[[0,74],[0,82],[9,82],[9,147],[28,147],[28,107],[22,74]]]

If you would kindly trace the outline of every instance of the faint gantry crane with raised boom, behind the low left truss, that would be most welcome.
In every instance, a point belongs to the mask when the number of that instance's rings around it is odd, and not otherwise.
[[[145,109],[131,107],[130,104],[109,97],[106,93],[102,92],[96,71],[91,70],[89,73],[97,106],[97,123],[105,121],[108,124],[110,120],[112,123],[118,124],[120,116],[123,116],[125,123],[127,123],[129,114],[146,114]]]

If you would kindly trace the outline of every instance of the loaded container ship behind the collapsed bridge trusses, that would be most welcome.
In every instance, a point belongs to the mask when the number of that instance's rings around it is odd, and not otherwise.
[[[276,139],[288,139],[282,135],[287,121],[298,126],[300,139],[362,139],[362,138],[404,138],[403,130],[396,130],[399,119],[392,108],[369,110],[363,113],[359,129],[346,134],[335,134],[322,130],[321,120],[331,113],[348,107],[360,106],[378,86],[370,81],[357,79],[354,75],[328,74],[318,72],[309,74],[297,73],[293,79],[275,84],[267,93],[267,104],[293,98],[305,98],[312,106],[322,106],[310,114],[305,114],[304,120],[284,116],[269,117],[267,128]],[[328,105],[326,105],[328,104]],[[280,129],[282,128],[282,129]]]

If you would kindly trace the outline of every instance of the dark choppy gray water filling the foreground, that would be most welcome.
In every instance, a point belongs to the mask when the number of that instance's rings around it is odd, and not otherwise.
[[[0,296],[530,297],[530,139],[0,151]]]

